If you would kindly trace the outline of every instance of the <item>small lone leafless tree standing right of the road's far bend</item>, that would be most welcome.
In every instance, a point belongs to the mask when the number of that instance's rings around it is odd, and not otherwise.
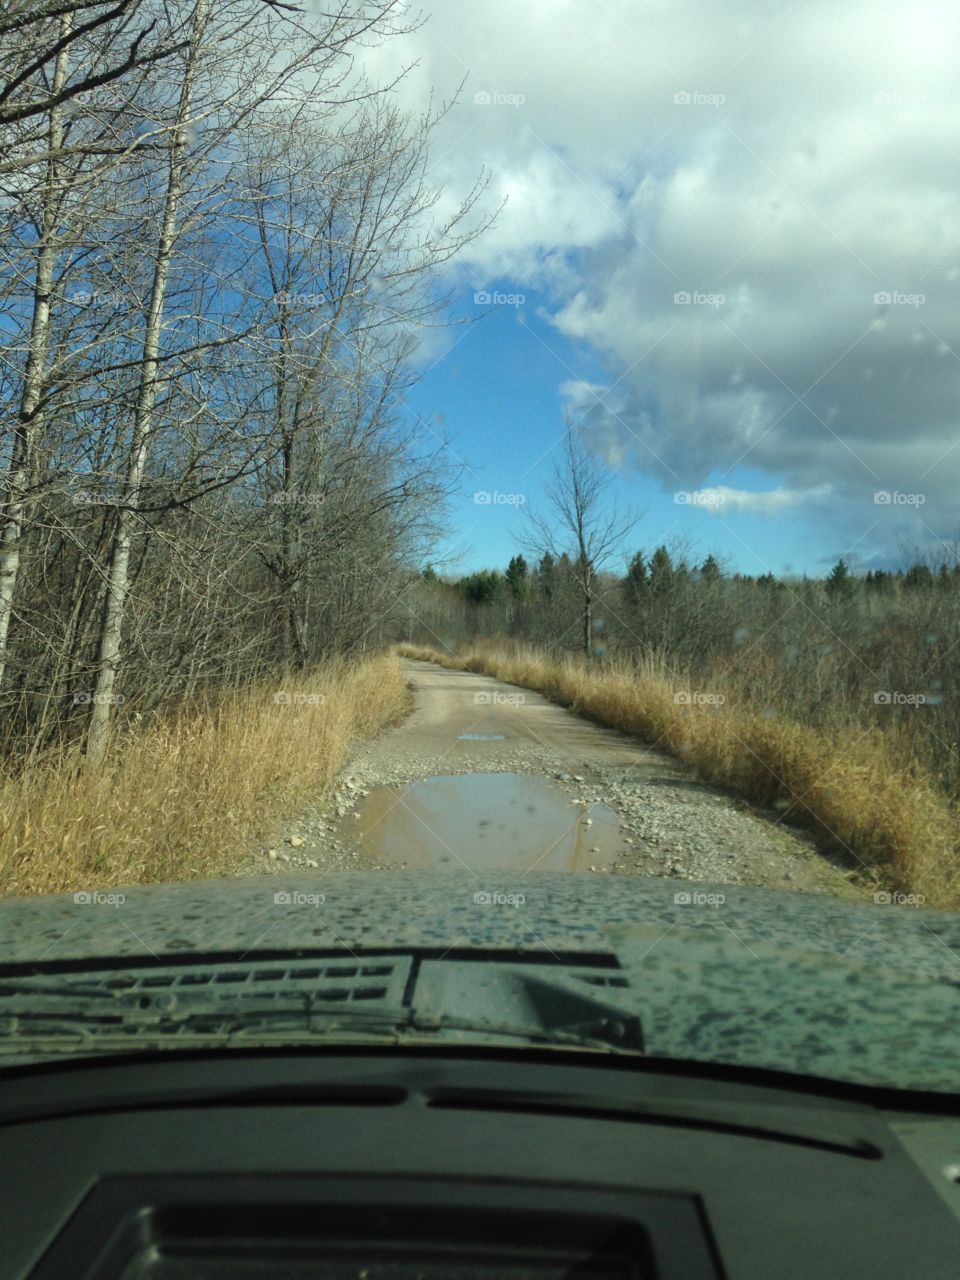
[[[580,598],[584,653],[591,658],[596,575],[614,554],[623,552],[643,512],[618,509],[616,498],[609,495],[611,471],[586,449],[570,416],[564,417],[564,425],[562,456],[545,488],[548,511],[527,509],[524,543],[538,557],[570,558]]]

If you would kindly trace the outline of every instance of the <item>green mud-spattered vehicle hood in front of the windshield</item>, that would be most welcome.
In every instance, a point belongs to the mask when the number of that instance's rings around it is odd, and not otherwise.
[[[8,980],[104,961],[376,952],[596,964],[604,998],[640,1019],[650,1056],[960,1092],[954,914],[676,879],[431,872],[297,872],[0,902]]]

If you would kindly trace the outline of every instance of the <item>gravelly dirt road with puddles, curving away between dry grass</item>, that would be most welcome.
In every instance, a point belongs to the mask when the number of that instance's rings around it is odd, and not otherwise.
[[[635,739],[486,676],[404,669],[412,714],[259,851],[260,869],[563,869],[867,893],[803,833]]]

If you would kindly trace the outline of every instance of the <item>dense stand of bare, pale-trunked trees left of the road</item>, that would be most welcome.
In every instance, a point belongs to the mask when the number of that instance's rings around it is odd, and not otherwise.
[[[434,216],[438,116],[356,74],[394,5],[0,15],[1,709],[23,759],[86,737],[96,765],[118,718],[362,652],[403,612],[451,485],[404,403],[413,334],[486,220],[483,180]]]

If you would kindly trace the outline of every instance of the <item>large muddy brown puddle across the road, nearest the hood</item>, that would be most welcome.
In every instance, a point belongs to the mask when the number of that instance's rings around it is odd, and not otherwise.
[[[371,791],[340,835],[379,863],[430,870],[608,867],[620,823],[607,805],[571,804],[547,778],[465,773]],[[589,824],[588,824],[589,820]]]

